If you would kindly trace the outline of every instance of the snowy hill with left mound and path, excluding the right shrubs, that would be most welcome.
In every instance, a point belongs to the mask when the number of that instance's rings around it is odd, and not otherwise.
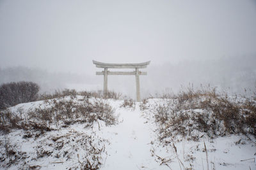
[[[67,113],[60,105],[63,103],[70,104],[70,111],[76,117],[60,116]],[[196,141],[177,135],[172,142],[163,145],[159,140],[155,109],[164,100],[148,99],[147,109],[143,108],[143,103],[132,103],[131,106],[124,103],[122,100],[76,96],[9,108],[12,117],[17,116],[19,120],[12,123],[10,132],[1,131],[0,168],[256,169],[256,139],[252,135],[227,134],[209,138],[198,131]],[[57,107],[61,110],[54,110]],[[36,108],[40,109],[36,112]],[[104,118],[83,108],[102,114]],[[37,118],[33,113],[47,109],[53,111],[52,116],[56,119],[45,118],[43,126],[40,125],[42,117]],[[104,115],[106,109],[113,117]],[[5,113],[1,114],[1,121],[8,122],[4,120]],[[27,128],[22,127],[26,121],[30,124]],[[4,128],[7,127],[1,127]]]

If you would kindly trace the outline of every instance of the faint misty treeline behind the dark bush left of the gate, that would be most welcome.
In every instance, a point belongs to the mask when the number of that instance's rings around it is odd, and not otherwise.
[[[93,82],[92,79],[86,76],[86,73],[67,73],[65,70],[61,73],[52,73],[51,71],[35,67],[0,68],[0,85],[17,81],[32,81],[40,86],[39,93],[50,93],[56,90],[67,89],[67,85],[71,83],[91,83]]]

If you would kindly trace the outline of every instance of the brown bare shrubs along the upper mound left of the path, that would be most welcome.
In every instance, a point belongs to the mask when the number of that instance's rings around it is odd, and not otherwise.
[[[22,119],[22,115],[12,113],[10,110],[0,111],[0,131],[9,133],[12,129],[29,129],[44,132],[68,127],[71,124],[83,123],[86,127],[93,122],[102,120],[106,125],[116,124],[113,108],[100,99],[83,101],[77,99],[52,99],[44,108],[40,106],[26,113],[28,117]]]

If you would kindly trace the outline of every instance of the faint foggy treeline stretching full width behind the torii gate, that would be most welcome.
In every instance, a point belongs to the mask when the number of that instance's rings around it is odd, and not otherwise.
[[[156,93],[161,94],[166,88],[177,93],[189,84],[193,84],[195,89],[210,84],[211,87],[217,87],[219,91],[231,95],[244,94],[246,90],[246,96],[250,97],[256,90],[255,63],[255,55],[184,60],[179,63],[169,61],[161,64],[156,64],[152,60],[147,69],[141,69],[148,73],[147,76],[140,76],[141,97],[156,96]],[[76,73],[76,70],[73,73],[67,73],[67,70],[63,70],[62,73],[51,73],[44,69],[28,67],[0,68],[0,84],[11,81],[33,81],[40,85],[39,93],[42,94],[63,89],[102,90],[103,77],[96,76],[92,67],[88,66],[83,73]],[[128,97],[136,96],[134,76],[109,76],[108,88],[122,92]]]

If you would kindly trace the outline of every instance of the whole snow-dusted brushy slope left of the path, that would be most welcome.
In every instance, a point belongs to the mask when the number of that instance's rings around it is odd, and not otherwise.
[[[40,168],[33,161],[45,158],[51,159],[52,164],[61,162],[68,169],[99,169],[102,166],[109,141],[90,130],[116,124],[114,109],[108,102],[71,94],[28,103],[28,106],[31,108],[25,106],[22,110],[15,106],[16,109],[0,111],[0,133],[8,137],[0,138],[0,168]],[[22,146],[17,144],[22,143],[10,140],[16,132],[16,138],[33,146],[32,156],[20,152]]]

